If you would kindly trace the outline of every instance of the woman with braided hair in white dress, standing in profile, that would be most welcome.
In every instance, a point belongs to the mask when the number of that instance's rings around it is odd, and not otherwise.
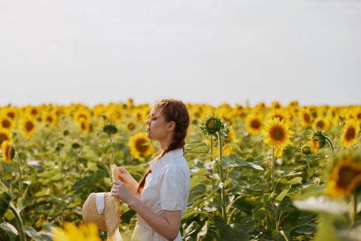
[[[183,156],[187,107],[173,99],[155,103],[146,125],[147,138],[157,140],[162,152],[149,162],[139,184],[120,167],[122,182],[112,182],[111,195],[137,212],[132,239],[182,240],[179,229],[190,188],[190,171]]]

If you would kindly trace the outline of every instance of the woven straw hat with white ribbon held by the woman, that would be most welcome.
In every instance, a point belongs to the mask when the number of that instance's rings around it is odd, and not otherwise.
[[[111,165],[112,180],[119,180],[117,172],[116,165]],[[82,216],[85,223],[94,222],[99,229],[107,231],[108,238],[120,235],[119,201],[112,197],[110,192],[91,193],[83,205]],[[116,240],[121,240],[121,237]]]

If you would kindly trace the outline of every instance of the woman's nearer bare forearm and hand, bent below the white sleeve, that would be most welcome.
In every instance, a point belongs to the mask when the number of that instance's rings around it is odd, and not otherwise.
[[[165,217],[162,218],[153,212],[149,207],[143,204],[136,196],[122,182],[112,182],[113,188],[111,196],[119,198],[126,202],[129,207],[136,211],[149,226],[162,235],[167,240],[174,240],[177,238],[180,229],[180,222],[182,219],[182,211],[166,211]]]

